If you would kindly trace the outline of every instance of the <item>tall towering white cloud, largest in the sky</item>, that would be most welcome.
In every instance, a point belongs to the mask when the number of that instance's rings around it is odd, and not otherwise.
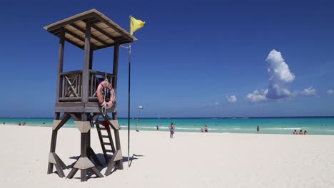
[[[291,73],[282,54],[275,49],[270,51],[266,60],[268,62],[269,85],[268,88],[246,95],[246,100],[250,103],[260,103],[269,100],[279,100],[288,98],[292,93],[288,90],[288,83],[295,80],[295,75]]]

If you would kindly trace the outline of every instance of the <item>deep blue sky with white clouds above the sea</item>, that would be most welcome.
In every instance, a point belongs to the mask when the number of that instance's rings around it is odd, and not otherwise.
[[[130,14],[146,21],[132,45],[131,116],[334,115],[332,1],[32,0],[1,8],[0,117],[53,117],[59,39],[43,27],[89,9],[126,30]],[[112,53],[94,53],[94,70],[111,72]],[[82,65],[83,51],[66,43],[64,71]],[[121,48],[118,117],[127,116],[127,70]]]

